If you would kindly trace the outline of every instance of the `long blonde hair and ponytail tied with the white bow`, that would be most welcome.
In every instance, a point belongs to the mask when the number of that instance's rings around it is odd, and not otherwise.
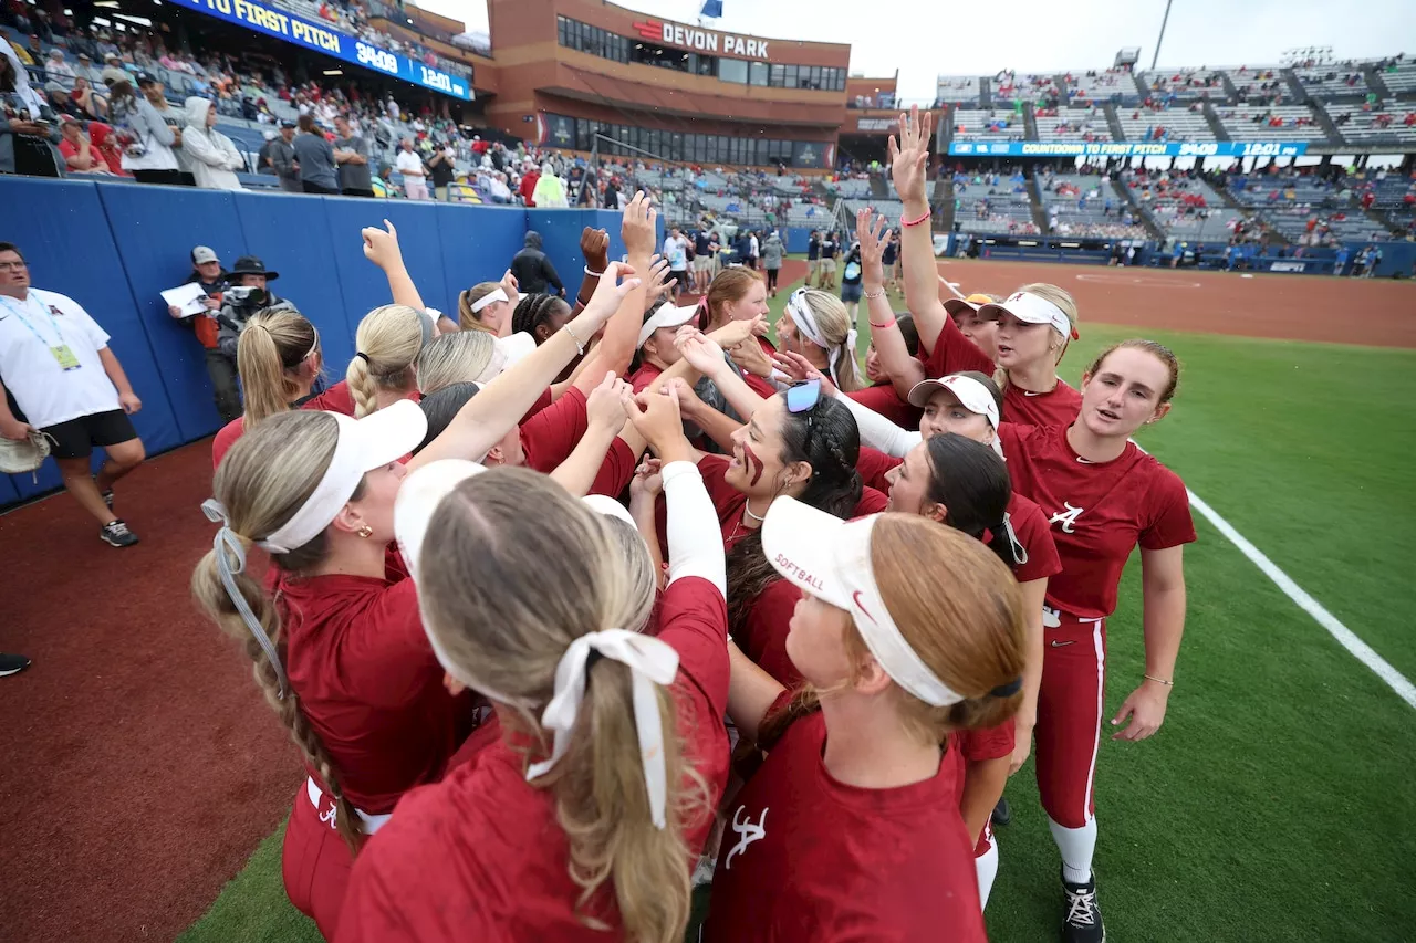
[[[473,687],[486,678],[506,698],[503,724],[539,752],[535,743],[549,739],[539,716],[555,695],[561,657],[589,633],[637,627],[654,581],[626,561],[609,518],[524,469],[493,469],[457,486],[428,528],[425,545],[432,544],[445,552],[422,564],[428,633],[455,673]],[[561,569],[548,583],[538,573],[551,558]],[[708,789],[683,755],[673,694],[664,687],[656,694],[668,784],[664,828],[654,825],[644,783],[632,670],[610,657],[586,670],[565,755],[532,780],[555,797],[581,920],[603,927],[595,898],[609,882],[623,939],[637,943],[683,939],[691,892],[685,833],[711,816]]]

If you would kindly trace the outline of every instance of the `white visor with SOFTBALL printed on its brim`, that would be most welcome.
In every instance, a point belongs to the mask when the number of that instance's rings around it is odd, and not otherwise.
[[[933,707],[963,701],[935,677],[891,619],[871,568],[871,531],[879,514],[843,521],[779,497],[762,522],[762,549],[804,593],[851,613],[857,630],[895,684]]]

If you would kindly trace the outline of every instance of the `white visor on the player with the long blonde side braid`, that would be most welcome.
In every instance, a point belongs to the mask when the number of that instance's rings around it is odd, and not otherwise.
[[[326,415],[334,416],[340,425],[330,466],[295,517],[263,541],[256,541],[265,551],[289,554],[309,544],[348,504],[367,471],[411,453],[428,435],[428,418],[418,404],[408,399],[399,399],[362,419],[337,412]]]

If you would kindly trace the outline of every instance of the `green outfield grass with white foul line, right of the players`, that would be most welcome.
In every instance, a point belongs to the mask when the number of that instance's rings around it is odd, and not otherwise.
[[[784,295],[773,302],[780,314]],[[902,307],[896,302],[896,307]],[[1089,313],[1062,374],[1134,334]],[[1151,333],[1185,364],[1141,445],[1406,677],[1416,644],[1416,351]],[[1416,714],[1197,514],[1170,714],[1103,742],[1099,899],[1110,939],[1409,940]],[[1138,568],[1109,623],[1116,709],[1140,678]],[[1058,858],[1031,763],[1008,786],[990,937],[1054,939]],[[286,902],[280,834],[184,943],[319,940]]]

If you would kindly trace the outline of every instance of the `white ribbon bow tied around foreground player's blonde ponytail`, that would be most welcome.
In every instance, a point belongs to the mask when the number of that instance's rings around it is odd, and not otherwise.
[[[667,641],[623,629],[606,629],[583,634],[571,643],[555,667],[555,697],[541,714],[541,726],[555,732],[551,758],[532,763],[527,779],[538,779],[565,756],[571,748],[571,731],[585,699],[585,674],[590,651],[613,658],[630,668],[634,692],[634,729],[639,732],[640,762],[644,766],[644,789],[656,828],[668,823],[668,772],[664,763],[664,726],[658,715],[654,685],[667,687],[678,674],[678,653]]]

